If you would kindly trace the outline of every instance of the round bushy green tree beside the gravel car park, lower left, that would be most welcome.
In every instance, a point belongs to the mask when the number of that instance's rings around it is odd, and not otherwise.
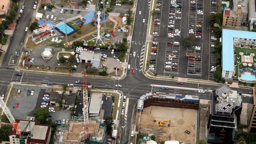
[[[39,108],[34,111],[35,121],[39,121],[41,124],[46,122],[46,119],[49,115],[50,112],[47,107]]]

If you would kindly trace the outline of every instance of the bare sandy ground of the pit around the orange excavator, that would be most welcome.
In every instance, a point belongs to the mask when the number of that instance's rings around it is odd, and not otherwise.
[[[161,120],[171,120],[171,126],[167,126],[169,122],[165,123],[164,127],[157,126],[157,122]],[[147,107],[143,109],[143,113],[141,114],[139,130],[145,133],[153,133],[156,135],[158,142],[162,140],[178,140],[186,144],[195,144],[197,110],[155,106]],[[189,135],[185,133],[186,130],[190,131]]]

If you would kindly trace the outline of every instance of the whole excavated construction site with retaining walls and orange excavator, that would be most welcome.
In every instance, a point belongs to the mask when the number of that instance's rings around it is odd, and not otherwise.
[[[138,130],[145,135],[155,135],[157,142],[177,140],[196,144],[199,100],[193,98],[154,92],[141,96],[143,108],[138,107]]]

